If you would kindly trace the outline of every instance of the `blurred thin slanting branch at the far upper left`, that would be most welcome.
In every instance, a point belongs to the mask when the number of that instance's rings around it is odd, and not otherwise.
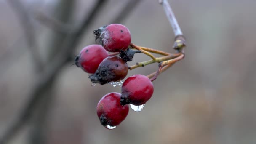
[[[43,61],[41,59],[40,53],[38,51],[35,29],[27,13],[24,5],[19,0],[7,0],[9,4],[13,7],[13,10],[16,12],[20,20],[20,24],[24,29],[24,35],[27,41],[29,51],[31,52],[33,62],[35,64],[35,69],[40,71],[43,69]]]

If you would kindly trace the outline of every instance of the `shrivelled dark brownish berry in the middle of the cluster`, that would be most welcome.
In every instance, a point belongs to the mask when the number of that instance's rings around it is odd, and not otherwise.
[[[93,83],[104,85],[108,82],[122,80],[128,74],[128,64],[117,56],[105,58],[98,69],[89,78]]]

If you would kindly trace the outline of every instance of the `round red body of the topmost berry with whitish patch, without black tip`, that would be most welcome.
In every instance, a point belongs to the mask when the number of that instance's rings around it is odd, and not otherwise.
[[[110,24],[99,35],[99,41],[107,51],[125,51],[131,43],[131,33],[122,24]]]

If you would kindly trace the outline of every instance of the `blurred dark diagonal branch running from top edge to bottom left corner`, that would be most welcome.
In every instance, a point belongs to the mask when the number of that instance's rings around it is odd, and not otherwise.
[[[21,130],[24,124],[31,118],[34,107],[40,102],[42,98],[41,93],[52,83],[52,81],[56,78],[56,75],[60,72],[61,68],[67,63],[69,60],[69,55],[72,54],[72,51],[77,46],[78,42],[83,36],[83,33],[87,29],[88,25],[91,24],[93,19],[96,17],[96,13],[99,11],[102,5],[107,0],[98,0],[96,2],[95,7],[89,14],[88,18],[83,20],[82,24],[74,34],[70,34],[67,38],[66,43],[63,44],[62,51],[57,53],[54,57],[53,61],[49,63],[49,65],[45,68],[42,74],[37,77],[35,80],[34,88],[32,88],[31,93],[29,94],[29,101],[20,112],[21,115],[18,116],[17,120],[7,129],[6,133],[4,133],[2,139],[0,139],[0,144],[6,144],[16,133]]]

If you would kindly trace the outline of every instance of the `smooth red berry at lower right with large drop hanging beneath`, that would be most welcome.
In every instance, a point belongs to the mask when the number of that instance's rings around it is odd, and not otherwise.
[[[133,75],[128,77],[121,88],[121,105],[133,104],[136,106],[145,104],[153,95],[154,87],[145,75]]]

